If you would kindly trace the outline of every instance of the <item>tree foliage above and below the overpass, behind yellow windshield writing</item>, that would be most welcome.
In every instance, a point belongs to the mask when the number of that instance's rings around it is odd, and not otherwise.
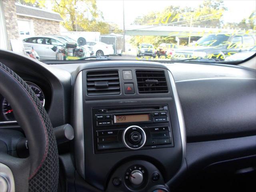
[[[168,6],[163,11],[149,12],[135,18],[132,24],[136,25],[176,25],[176,26],[212,26],[217,27],[222,24],[220,18],[226,10],[222,0],[204,0],[198,8],[192,10],[190,7],[180,8],[179,6]],[[150,43],[158,46],[161,43],[176,43],[175,37],[166,38],[164,36],[133,36],[130,40],[135,46],[140,43]],[[180,40],[180,44],[187,42]]]

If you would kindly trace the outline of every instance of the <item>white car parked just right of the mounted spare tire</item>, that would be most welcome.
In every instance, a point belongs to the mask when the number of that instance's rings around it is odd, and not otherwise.
[[[112,45],[108,45],[106,43],[102,43],[100,41],[90,41],[86,42],[88,48],[92,48],[95,56],[100,57],[104,55],[114,54],[114,49]]]

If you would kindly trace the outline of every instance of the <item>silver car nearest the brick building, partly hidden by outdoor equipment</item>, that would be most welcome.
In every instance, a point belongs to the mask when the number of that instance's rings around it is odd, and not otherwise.
[[[23,40],[24,47],[33,48],[40,60],[56,60],[56,52],[52,50],[54,46],[64,46],[65,42],[59,38],[34,36]]]

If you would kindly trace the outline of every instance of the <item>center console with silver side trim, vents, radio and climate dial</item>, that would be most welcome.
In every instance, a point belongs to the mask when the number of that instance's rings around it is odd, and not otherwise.
[[[97,62],[74,87],[78,174],[102,191],[163,191],[184,160],[175,82],[158,63]]]

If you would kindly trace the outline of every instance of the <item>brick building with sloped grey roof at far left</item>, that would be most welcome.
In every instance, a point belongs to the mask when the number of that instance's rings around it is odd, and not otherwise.
[[[10,39],[60,34],[60,14],[40,8],[16,4],[15,0],[0,1],[0,48],[11,50]]]

